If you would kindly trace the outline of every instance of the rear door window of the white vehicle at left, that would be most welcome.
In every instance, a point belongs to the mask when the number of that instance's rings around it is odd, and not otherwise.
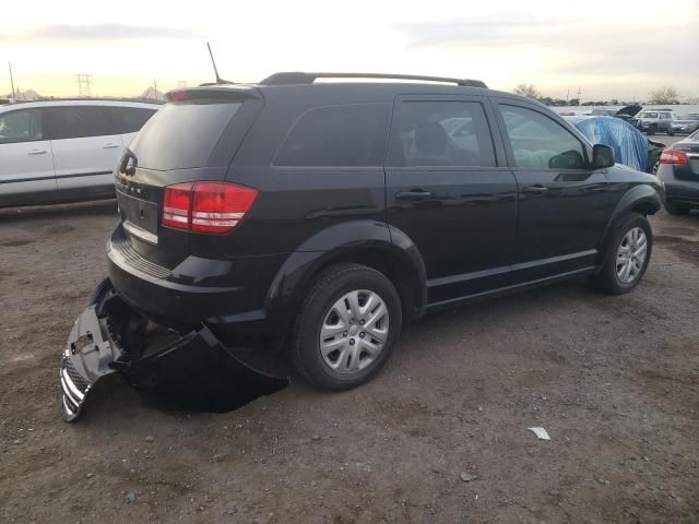
[[[105,136],[107,116],[102,107],[64,106],[45,109],[46,134],[50,140]]]

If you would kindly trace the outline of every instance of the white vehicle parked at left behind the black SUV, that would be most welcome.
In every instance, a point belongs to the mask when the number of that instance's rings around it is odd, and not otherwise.
[[[114,198],[123,147],[161,106],[82,98],[0,107],[0,207]]]

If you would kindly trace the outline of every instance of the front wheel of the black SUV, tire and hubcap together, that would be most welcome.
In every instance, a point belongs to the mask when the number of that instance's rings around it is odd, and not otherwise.
[[[624,218],[607,245],[602,271],[592,277],[597,289],[624,295],[633,289],[645,273],[653,249],[653,231],[648,218],[631,213]]]

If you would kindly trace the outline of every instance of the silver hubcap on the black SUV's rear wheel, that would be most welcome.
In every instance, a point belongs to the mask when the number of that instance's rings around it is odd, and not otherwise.
[[[320,329],[320,354],[337,373],[357,373],[374,362],[389,335],[389,310],[368,289],[343,295],[332,305]]]

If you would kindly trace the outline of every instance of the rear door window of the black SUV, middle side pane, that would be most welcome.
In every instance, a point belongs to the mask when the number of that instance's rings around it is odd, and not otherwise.
[[[403,102],[391,142],[391,166],[495,166],[488,122],[474,102]]]

